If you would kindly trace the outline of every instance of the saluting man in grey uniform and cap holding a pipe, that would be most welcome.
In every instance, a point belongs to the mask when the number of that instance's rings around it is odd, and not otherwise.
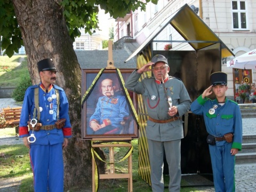
[[[138,81],[142,73],[151,70],[154,77]],[[169,76],[169,71],[167,59],[157,54],[151,62],[133,71],[125,83],[128,90],[143,95],[147,107],[150,178],[155,192],[164,191],[164,151],[169,165],[169,191],[180,191],[180,145],[183,138],[183,122],[180,117],[189,110],[191,104],[185,85],[180,79]]]

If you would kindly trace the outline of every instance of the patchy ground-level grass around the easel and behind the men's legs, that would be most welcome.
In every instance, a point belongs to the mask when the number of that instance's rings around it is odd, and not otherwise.
[[[0,137],[13,137],[15,135],[15,129],[5,128],[0,129]],[[132,177],[133,177],[133,191],[147,192],[152,191],[151,187],[141,179],[138,174],[138,139],[132,140],[133,152],[132,152]],[[120,147],[115,149],[115,162],[119,161],[127,152],[127,147]],[[108,159],[108,148],[102,148],[105,151],[105,155]],[[33,174],[29,161],[29,149],[23,144],[19,145],[0,145],[0,178],[14,178],[24,175],[20,191],[34,191],[33,189]],[[109,167],[108,167],[109,168]],[[123,162],[115,164],[116,173],[127,173],[127,159]],[[169,177],[165,176],[165,183],[169,182]],[[183,181],[186,185],[186,181]],[[84,187],[89,189],[91,186]],[[71,188],[65,191],[69,192],[82,192],[84,189]],[[127,191],[128,182],[127,179],[101,179],[99,184],[99,192],[123,192]],[[168,191],[166,188],[164,191]],[[181,188],[181,192],[197,191],[194,188]]]

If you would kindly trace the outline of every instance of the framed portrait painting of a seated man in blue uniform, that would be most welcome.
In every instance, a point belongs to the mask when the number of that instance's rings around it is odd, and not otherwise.
[[[82,70],[82,139],[138,138],[137,97],[124,87],[132,71]]]

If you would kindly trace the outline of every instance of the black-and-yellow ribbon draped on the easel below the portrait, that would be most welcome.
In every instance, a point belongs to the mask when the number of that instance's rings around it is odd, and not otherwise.
[[[109,144],[130,144],[130,141],[124,142],[124,141],[91,141],[92,145],[93,144],[101,144],[102,147],[104,147],[104,145],[109,145]],[[107,162],[107,161],[103,161],[103,159],[99,156],[99,154],[93,149],[93,147],[91,148],[91,153],[92,153],[92,158],[94,159],[94,185],[95,185],[95,191],[97,192],[99,189],[99,172],[98,172],[98,167],[97,167],[97,163],[95,161],[95,156],[98,157],[98,159],[100,159],[100,161],[105,162],[107,164],[115,164],[115,163],[120,163],[122,161],[124,161],[127,157],[129,157],[132,153],[133,150],[133,146],[130,147],[130,149],[126,152],[126,154],[124,155],[123,158],[121,158],[118,162]]]

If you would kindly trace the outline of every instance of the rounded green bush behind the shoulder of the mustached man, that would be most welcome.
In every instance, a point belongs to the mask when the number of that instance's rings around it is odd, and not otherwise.
[[[32,85],[29,74],[25,74],[21,77],[20,84],[12,92],[12,98],[15,101],[23,101],[25,97],[25,92],[29,86]]]

